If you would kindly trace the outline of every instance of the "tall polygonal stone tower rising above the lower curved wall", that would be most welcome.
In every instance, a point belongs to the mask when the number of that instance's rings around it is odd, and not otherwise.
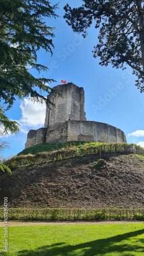
[[[68,120],[86,120],[84,89],[73,83],[61,84],[53,88],[60,95],[50,93],[47,98],[55,104],[46,108],[44,127]]]

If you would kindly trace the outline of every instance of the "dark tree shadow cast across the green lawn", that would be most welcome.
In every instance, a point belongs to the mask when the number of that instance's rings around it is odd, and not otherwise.
[[[65,243],[57,243],[51,246],[41,246],[38,247],[36,250],[22,250],[18,251],[17,255],[20,256],[66,256],[66,255],[83,255],[83,256],[95,256],[95,255],[105,255],[105,253],[112,253],[112,252],[121,252],[123,256],[129,255],[127,254],[130,252],[131,256],[135,256],[135,252],[140,252],[141,255],[144,255],[144,247],[136,245],[129,245],[126,243],[131,237],[136,237],[140,234],[144,233],[144,229],[140,229],[134,232],[129,232],[125,234],[119,234],[115,237],[106,238],[106,239],[99,239],[91,242],[81,243],[77,245],[67,245]],[[122,244],[122,241],[125,240],[125,243]],[[143,241],[143,239],[142,239]],[[120,243],[121,244],[118,244]],[[136,242],[141,242],[141,239],[136,240]],[[76,250],[82,250],[82,253]],[[126,254],[125,254],[126,253]]]

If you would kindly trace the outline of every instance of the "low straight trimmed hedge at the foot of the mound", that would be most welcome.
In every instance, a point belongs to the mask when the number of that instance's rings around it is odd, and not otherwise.
[[[4,209],[0,208],[0,219]],[[144,221],[144,209],[24,209],[9,208],[9,220],[23,221]]]

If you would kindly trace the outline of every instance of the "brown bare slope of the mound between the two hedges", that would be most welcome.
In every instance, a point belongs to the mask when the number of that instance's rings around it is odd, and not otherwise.
[[[0,206],[8,197],[17,208],[144,208],[144,158],[103,159],[104,168],[87,155],[0,174]]]

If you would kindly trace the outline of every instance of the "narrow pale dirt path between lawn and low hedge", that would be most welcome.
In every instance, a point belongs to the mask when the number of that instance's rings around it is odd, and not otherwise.
[[[124,223],[143,223],[143,221],[100,221],[100,222],[18,222],[18,221],[9,221],[9,227],[16,226],[38,226],[38,225],[99,225],[99,224],[124,224]],[[5,222],[0,222],[0,227],[5,227]]]

